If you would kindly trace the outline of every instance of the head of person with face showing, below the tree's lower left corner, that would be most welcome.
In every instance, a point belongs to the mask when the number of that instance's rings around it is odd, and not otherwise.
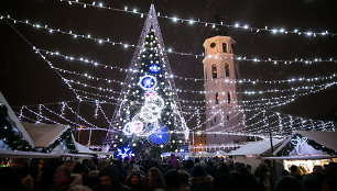
[[[99,187],[101,190],[112,190],[120,184],[120,177],[118,170],[113,166],[105,167],[98,175]]]

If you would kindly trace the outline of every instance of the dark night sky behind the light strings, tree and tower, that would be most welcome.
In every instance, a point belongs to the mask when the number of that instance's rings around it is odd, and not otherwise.
[[[85,1],[93,2],[93,1]],[[140,12],[148,12],[152,1],[113,0],[101,1],[105,5],[123,9],[128,5]],[[154,1],[155,9],[162,15],[176,15],[183,19],[200,19],[213,22],[217,12],[224,23],[239,22],[257,27],[301,29],[303,31],[320,32],[327,30],[337,33],[337,1],[335,0],[161,0]],[[73,31],[78,34],[91,34],[97,37],[110,38],[115,42],[137,44],[144,18],[138,14],[104,10],[98,8],[83,9],[80,5],[68,5],[57,0],[10,0],[0,2],[0,14],[10,14],[14,19],[29,20],[33,23],[47,24],[54,29]],[[213,29],[200,24],[173,23],[167,19],[159,19],[166,47],[176,52],[202,54],[203,43],[211,35]],[[14,24],[34,46],[74,56],[83,56],[107,65],[128,68],[134,48],[98,44],[88,40],[74,40],[68,35],[48,34],[46,31],[33,29],[23,24]],[[1,71],[0,90],[12,106],[39,104],[75,100],[75,94],[61,80],[48,65],[36,55],[4,21],[0,21]],[[244,30],[226,29],[237,44],[237,55],[258,58],[294,59],[330,58],[337,59],[337,36],[308,37],[294,34],[253,33]],[[172,70],[175,75],[192,78],[203,78],[202,58],[168,54]],[[124,72],[102,70],[84,66],[80,63],[69,63],[59,58],[51,58],[53,64],[77,72],[88,72],[102,78],[123,81]],[[336,72],[336,64],[314,64],[311,66],[294,64],[273,66],[263,63],[240,61],[241,78],[260,80],[289,79],[291,77],[329,76]],[[336,80],[336,78],[334,79]],[[85,81],[85,80],[84,80]],[[89,82],[89,81],[87,81]],[[175,80],[180,89],[203,90],[203,83]],[[308,86],[312,83],[301,83]],[[100,85],[98,85],[100,86]],[[295,86],[295,85],[291,85]],[[300,85],[298,85],[300,86]],[[290,86],[289,86],[290,87]],[[287,88],[289,88],[287,87]],[[110,88],[119,91],[121,86],[111,83]],[[253,86],[242,87],[243,90],[254,90]],[[257,87],[261,89],[284,88],[278,86]],[[286,88],[286,87],[285,87]],[[285,106],[274,109],[296,116],[317,120],[336,120],[337,88],[331,87],[323,92],[306,96]],[[272,94],[273,97],[280,94]],[[117,97],[117,96],[116,96]],[[180,98],[203,100],[195,93],[182,93]],[[258,99],[261,97],[244,97]],[[75,109],[75,103],[69,103]],[[53,105],[51,105],[52,108]],[[59,105],[57,105],[59,108]],[[56,108],[57,108],[56,106]],[[57,111],[55,108],[55,111]],[[19,111],[18,108],[14,108]],[[33,109],[33,108],[32,108]],[[113,106],[104,105],[108,116],[113,113]],[[37,109],[35,108],[35,111]],[[58,109],[59,111],[59,109]],[[80,114],[93,117],[94,103],[84,103]],[[68,115],[69,119],[75,116]],[[93,123],[102,127],[107,125],[101,116]],[[97,135],[101,136],[101,135]]]

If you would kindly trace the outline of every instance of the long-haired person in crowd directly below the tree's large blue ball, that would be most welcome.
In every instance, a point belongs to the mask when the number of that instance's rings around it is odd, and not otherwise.
[[[165,180],[162,176],[162,172],[155,168],[152,167],[149,172],[148,172],[148,177],[146,177],[146,190],[163,190],[166,188],[166,183]]]

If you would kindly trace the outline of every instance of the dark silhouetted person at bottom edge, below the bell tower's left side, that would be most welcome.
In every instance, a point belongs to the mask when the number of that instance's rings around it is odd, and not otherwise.
[[[188,180],[191,191],[213,191],[213,177],[206,173],[203,166],[197,165],[192,169],[191,178]]]

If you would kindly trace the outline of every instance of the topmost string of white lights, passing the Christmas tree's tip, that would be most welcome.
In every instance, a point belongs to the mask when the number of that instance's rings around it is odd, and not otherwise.
[[[106,7],[102,3],[85,3],[85,2],[79,2],[78,0],[76,1],[70,1],[70,0],[61,0],[64,2],[68,2],[69,5],[72,5],[73,3],[75,4],[80,4],[83,5],[83,8],[87,8],[87,7],[95,7],[95,8],[99,8],[99,9],[107,9],[107,10],[112,10],[112,11],[117,11],[117,12],[127,12],[127,13],[133,13],[137,15],[140,15],[141,18],[143,18],[144,15],[146,15],[146,13],[143,12],[139,12],[137,9],[128,9],[128,7],[124,7],[124,9],[118,9],[118,8],[111,8],[111,7]],[[94,1],[95,2],[95,1]],[[320,30],[319,32],[314,32],[314,31],[302,31],[298,29],[294,29],[294,30],[286,30],[285,27],[270,27],[270,26],[264,26],[264,27],[253,27],[253,26],[249,26],[248,24],[239,24],[239,22],[236,22],[235,24],[227,24],[224,23],[222,21],[220,23],[214,23],[214,22],[205,22],[202,21],[199,19],[182,19],[182,18],[177,18],[177,16],[168,16],[168,15],[161,15],[160,13],[157,13],[159,18],[163,18],[163,19],[167,19],[173,21],[174,23],[180,22],[180,23],[186,23],[187,25],[193,25],[194,23],[200,24],[203,26],[206,27],[211,27],[215,29],[216,26],[226,26],[226,27],[231,27],[231,29],[238,29],[238,30],[242,30],[242,31],[251,31],[254,34],[259,33],[259,32],[267,32],[267,33],[271,33],[271,34],[295,34],[295,35],[304,35],[304,36],[309,36],[309,37],[316,37],[316,36],[335,36],[337,35],[337,33],[330,33],[327,30]]]

